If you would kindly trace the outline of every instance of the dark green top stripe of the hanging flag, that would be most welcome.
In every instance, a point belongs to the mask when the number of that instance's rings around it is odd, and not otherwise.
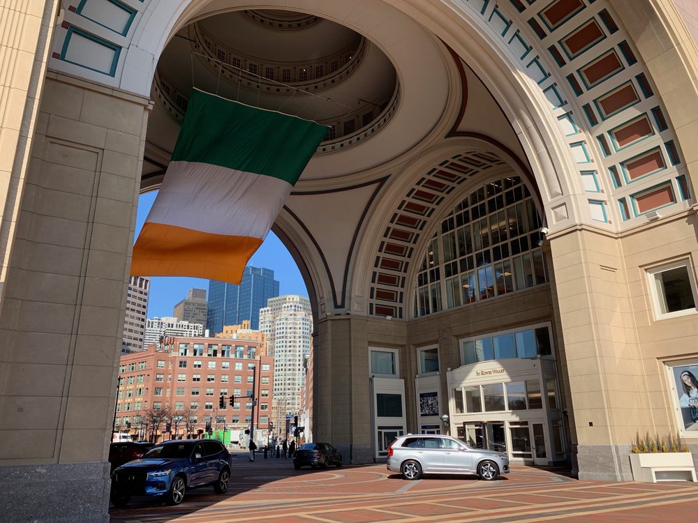
[[[325,132],[313,121],[194,89],[172,161],[219,165],[294,185]]]

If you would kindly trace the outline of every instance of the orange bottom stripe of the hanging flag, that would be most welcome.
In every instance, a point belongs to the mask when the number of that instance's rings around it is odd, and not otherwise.
[[[261,238],[146,222],[133,246],[131,275],[192,276],[240,284]]]

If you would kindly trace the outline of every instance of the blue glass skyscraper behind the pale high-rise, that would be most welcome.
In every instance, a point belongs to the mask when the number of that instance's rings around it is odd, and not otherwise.
[[[270,268],[246,266],[240,285],[209,280],[209,310],[206,328],[211,335],[223,332],[225,325],[250,320],[250,328],[259,328],[259,313],[267,300],[279,296],[279,282]]]

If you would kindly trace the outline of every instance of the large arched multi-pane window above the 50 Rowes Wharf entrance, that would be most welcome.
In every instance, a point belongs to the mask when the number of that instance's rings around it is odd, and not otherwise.
[[[417,272],[415,317],[547,282],[541,224],[519,176],[470,192],[429,242]]]

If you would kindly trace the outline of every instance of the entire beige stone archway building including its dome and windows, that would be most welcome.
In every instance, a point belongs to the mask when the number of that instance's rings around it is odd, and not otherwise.
[[[361,463],[448,431],[623,481],[637,433],[697,452],[694,1],[7,4],[10,520],[108,520],[134,209],[192,60],[198,86],[328,125],[273,227],[311,303],[316,441]]]

